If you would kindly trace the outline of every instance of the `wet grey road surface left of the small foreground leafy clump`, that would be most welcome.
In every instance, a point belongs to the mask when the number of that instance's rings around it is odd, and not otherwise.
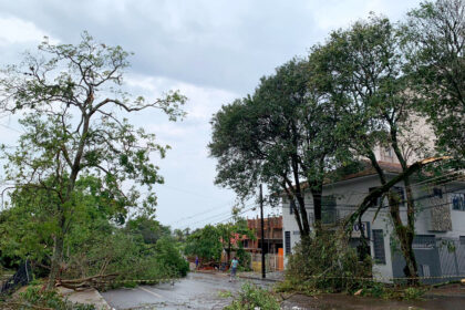
[[[189,273],[172,286],[140,286],[103,292],[103,298],[115,309],[223,309],[231,298],[221,292],[237,292],[242,279],[229,282],[226,275]],[[260,285],[269,285],[264,282]]]

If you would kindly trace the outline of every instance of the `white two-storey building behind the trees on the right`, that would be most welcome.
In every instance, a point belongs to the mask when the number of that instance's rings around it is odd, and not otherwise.
[[[381,154],[380,154],[381,153]],[[394,155],[389,149],[378,149],[381,167],[388,178],[401,172]],[[434,180],[434,179],[432,179]],[[465,276],[465,183],[416,182],[412,185],[415,199],[416,225],[414,251],[420,276]],[[349,216],[372,188],[381,186],[379,176],[371,167],[347,175],[323,187],[322,223],[334,224]],[[405,197],[403,183],[395,186],[401,197]],[[306,193],[309,223],[313,224],[313,205],[310,193]],[[378,204],[386,205],[385,202]],[[389,209],[383,207],[375,220],[378,206],[370,208],[362,217],[365,235],[370,239],[371,256],[375,264],[373,275],[378,278],[404,277],[404,259],[399,250],[393,250],[393,226]],[[406,207],[401,205],[402,219],[406,223]],[[355,225],[351,245],[360,240]],[[282,200],[282,230],[285,254],[290,254],[300,234],[288,199]]]

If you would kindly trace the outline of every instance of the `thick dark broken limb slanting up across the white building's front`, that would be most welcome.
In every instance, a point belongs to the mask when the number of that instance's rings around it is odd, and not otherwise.
[[[404,178],[411,176],[412,174],[418,172],[420,169],[422,169],[424,166],[426,166],[428,164],[433,164],[433,163],[436,163],[436,162],[446,161],[446,159],[451,159],[451,158],[452,158],[451,156],[430,157],[430,158],[425,158],[423,161],[416,162],[413,165],[411,165],[405,172],[399,174],[397,176],[392,178],[386,184],[384,184],[384,185],[375,188],[374,190],[372,190],[363,199],[363,202],[359,205],[356,210],[344,221],[343,228],[344,228],[345,232],[351,234],[352,227],[355,224],[355,220],[361,218],[363,216],[363,214],[370,208],[370,206],[372,206],[379,197],[389,193],[389,190],[395,184],[397,184],[399,182],[403,180]]]

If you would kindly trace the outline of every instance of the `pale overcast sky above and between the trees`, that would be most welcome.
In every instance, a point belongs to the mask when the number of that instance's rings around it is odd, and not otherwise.
[[[126,86],[157,97],[180,90],[187,118],[170,123],[157,112],[130,118],[173,149],[154,157],[165,177],[157,186],[157,218],[174,228],[227,219],[235,195],[214,185],[208,158],[209,120],[223,104],[254,91],[261,75],[370,11],[402,19],[416,0],[0,0],[0,64],[18,63],[43,35],[76,43],[83,30],[97,41],[134,52]],[[0,120],[0,143],[20,128]],[[249,213],[254,216],[254,213]]]

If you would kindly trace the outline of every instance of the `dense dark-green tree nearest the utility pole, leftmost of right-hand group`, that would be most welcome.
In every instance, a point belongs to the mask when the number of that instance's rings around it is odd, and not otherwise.
[[[216,183],[240,197],[254,195],[260,183],[283,193],[302,237],[310,234],[308,205],[316,223],[321,220],[326,173],[341,163],[337,151],[342,148],[334,97],[313,78],[307,60],[279,66],[260,80],[254,95],[221,107],[211,121],[209,144],[218,159]],[[304,190],[312,202],[306,203]]]

